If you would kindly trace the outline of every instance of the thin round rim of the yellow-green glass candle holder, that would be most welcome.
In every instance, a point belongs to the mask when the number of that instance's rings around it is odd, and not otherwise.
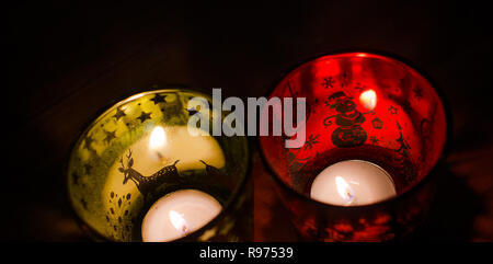
[[[154,88],[154,85],[152,87]],[[162,93],[162,92],[173,92],[173,91],[182,91],[182,92],[191,92],[191,93],[199,93],[200,95],[206,95],[208,100],[211,100],[211,96],[207,93],[207,90],[205,89],[191,89],[188,87],[181,87],[180,84],[170,84],[170,88],[158,88],[158,89],[152,89],[152,90],[147,90],[147,91],[141,91],[138,93],[135,93],[133,95],[124,95],[122,96],[123,99],[116,99],[116,103],[115,101],[112,101],[108,105],[106,106],[102,106],[100,108],[100,111],[98,111],[94,116],[95,118],[91,118],[90,122],[87,125],[83,125],[84,129],[82,129],[79,135],[77,136],[77,139],[72,141],[72,144],[70,145],[70,148],[68,149],[68,154],[66,156],[66,161],[64,162],[64,168],[62,171],[65,172],[65,176],[64,176],[64,185],[65,187],[65,193],[66,193],[66,197],[69,200],[69,210],[70,210],[70,215],[72,216],[72,218],[76,220],[76,222],[78,223],[78,226],[82,229],[82,230],[87,230],[90,232],[89,237],[92,238],[93,240],[99,240],[99,241],[113,241],[113,242],[118,242],[117,240],[113,239],[113,238],[108,238],[104,234],[102,234],[101,232],[99,232],[98,230],[95,230],[94,228],[92,228],[90,225],[88,225],[80,216],[79,214],[77,214],[74,207],[73,207],[73,202],[72,198],[70,197],[70,193],[69,193],[69,182],[68,182],[68,177],[69,175],[69,168],[70,168],[70,161],[71,161],[71,157],[73,154],[74,151],[74,147],[77,145],[80,144],[80,140],[82,140],[83,136],[92,128],[94,127],[95,124],[98,124],[98,122],[100,122],[107,113],[110,113],[111,111],[113,111],[114,108],[117,108],[118,106],[126,104],[128,102],[131,102],[133,100],[136,100],[138,97],[145,96],[145,95],[149,95],[149,94],[156,94],[156,93]],[[207,228],[210,228],[213,226],[215,226],[226,214],[228,214],[232,208],[231,206],[234,204],[234,202],[238,200],[239,198],[239,194],[242,192],[243,188],[245,188],[245,183],[252,172],[252,153],[251,153],[251,146],[252,146],[252,141],[251,139],[249,139],[249,137],[244,137],[245,138],[245,148],[246,148],[246,171],[244,173],[244,175],[241,177],[240,182],[237,184],[234,191],[231,194],[231,198],[228,199],[225,203],[225,206],[222,207],[222,210],[209,222],[207,222],[204,227],[186,234],[185,237],[179,238],[176,240],[173,241],[169,241],[169,242],[186,242],[190,239],[196,237],[198,233],[200,233],[202,231],[206,230]]]

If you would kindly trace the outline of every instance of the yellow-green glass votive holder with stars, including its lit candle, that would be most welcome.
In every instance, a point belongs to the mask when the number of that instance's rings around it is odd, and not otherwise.
[[[199,100],[202,104],[188,102]],[[192,90],[142,92],[113,105],[82,133],[68,164],[68,195],[82,227],[108,241],[241,241],[249,199],[248,139],[187,126],[214,115]],[[209,127],[210,128],[210,127]],[[249,216],[245,216],[249,217]]]

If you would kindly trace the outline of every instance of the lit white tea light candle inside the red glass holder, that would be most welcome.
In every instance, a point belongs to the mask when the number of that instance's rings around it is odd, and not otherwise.
[[[310,197],[325,204],[356,206],[375,204],[395,194],[393,180],[383,169],[368,161],[346,160],[317,175]]]

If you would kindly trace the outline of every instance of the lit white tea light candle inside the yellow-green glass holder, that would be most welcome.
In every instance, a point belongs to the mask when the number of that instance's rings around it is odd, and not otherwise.
[[[197,190],[181,190],[157,200],[142,221],[145,242],[180,239],[204,227],[222,207],[213,196]]]

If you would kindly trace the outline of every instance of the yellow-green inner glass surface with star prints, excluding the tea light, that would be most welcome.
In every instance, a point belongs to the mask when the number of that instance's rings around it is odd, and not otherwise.
[[[195,96],[211,105],[208,95],[191,90],[139,93],[105,111],[84,130],[70,157],[68,194],[74,211],[92,231],[108,240],[140,241],[140,225],[149,206],[182,188],[202,190],[228,206],[248,171],[248,140],[239,136],[192,138],[186,133],[188,117],[210,111],[188,110],[188,100]],[[211,124],[213,115],[208,116]],[[163,144],[161,152],[152,152]],[[119,168],[129,165],[144,177],[163,168],[171,172],[160,176],[159,184],[150,184],[152,192],[142,194],[135,179],[124,181]]]

